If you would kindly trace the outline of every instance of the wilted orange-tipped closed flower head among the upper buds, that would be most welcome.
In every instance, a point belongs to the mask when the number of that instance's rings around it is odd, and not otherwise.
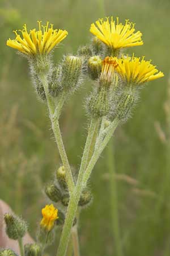
[[[105,57],[101,68],[100,81],[111,84],[117,66],[118,62],[116,57]]]

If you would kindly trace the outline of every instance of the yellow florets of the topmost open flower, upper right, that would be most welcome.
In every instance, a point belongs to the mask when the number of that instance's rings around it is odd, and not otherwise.
[[[140,31],[135,32],[134,25],[129,20],[126,20],[125,24],[119,23],[118,18],[116,23],[111,17],[111,22],[107,18],[106,20],[97,20],[96,25],[92,23],[90,32],[104,44],[114,49],[142,46],[142,33]]]

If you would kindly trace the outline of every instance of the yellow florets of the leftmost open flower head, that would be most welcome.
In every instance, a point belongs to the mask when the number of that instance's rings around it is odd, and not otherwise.
[[[49,22],[46,22],[46,26],[42,26],[41,21],[38,23],[38,31],[33,28],[28,33],[26,24],[24,24],[23,30],[19,30],[21,35],[15,30],[16,38],[8,39],[7,46],[18,49],[26,55],[48,54],[68,34],[66,30],[54,30],[53,24],[50,24],[49,27]]]

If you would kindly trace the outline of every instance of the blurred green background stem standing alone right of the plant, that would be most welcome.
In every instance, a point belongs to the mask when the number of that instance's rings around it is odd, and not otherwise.
[[[113,223],[113,234],[116,247],[116,255],[122,256],[122,245],[120,238],[120,224],[118,219],[118,201],[117,201],[117,183],[116,183],[116,170],[114,166],[114,152],[113,142],[111,141],[107,148],[107,163],[109,171],[109,183],[111,188],[111,214]]]

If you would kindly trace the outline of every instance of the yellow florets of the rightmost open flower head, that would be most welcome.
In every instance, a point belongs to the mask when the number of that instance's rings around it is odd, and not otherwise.
[[[163,77],[163,72],[158,72],[156,66],[146,61],[145,57],[124,57],[117,59],[118,66],[116,71],[120,74],[125,82],[133,82],[135,84],[142,84],[147,81],[152,81]]]

